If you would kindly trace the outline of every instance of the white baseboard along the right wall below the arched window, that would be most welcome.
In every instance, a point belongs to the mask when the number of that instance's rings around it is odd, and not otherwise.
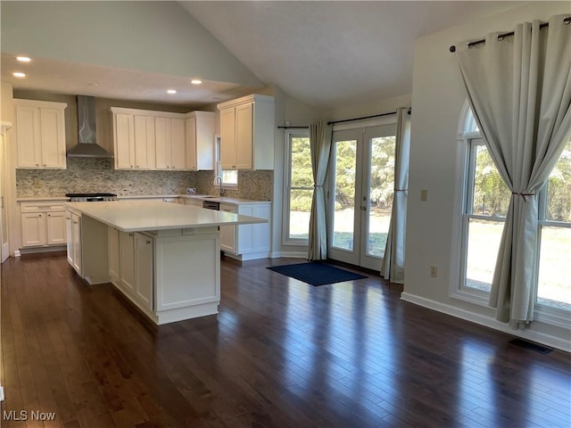
[[[509,325],[501,323],[496,319],[485,317],[484,315],[476,314],[465,309],[459,309],[439,301],[426,299],[424,297],[410,294],[408,292],[401,293],[401,300],[414,303],[415,305],[422,306],[423,308],[433,309],[437,312],[442,312],[443,314],[450,315],[452,317],[465,319],[466,321],[470,321],[477,325],[483,325],[484,327],[489,327],[502,333],[508,333],[512,336],[521,337],[532,342],[542,343],[543,345],[550,346],[551,348],[571,352],[571,342],[567,342],[564,339],[552,336],[550,334],[534,332],[533,330],[529,329],[513,330],[509,327]]]

